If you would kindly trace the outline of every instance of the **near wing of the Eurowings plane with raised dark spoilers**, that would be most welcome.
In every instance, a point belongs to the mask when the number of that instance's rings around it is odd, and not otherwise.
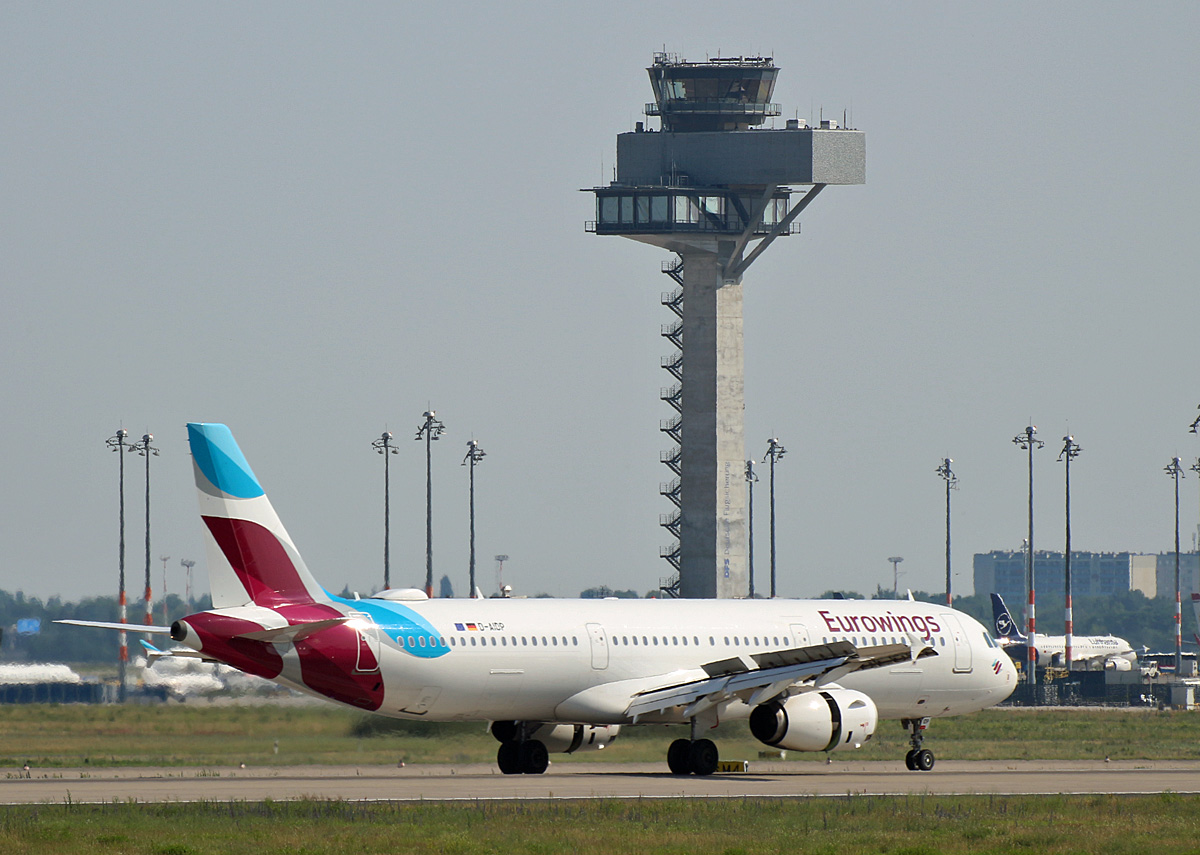
[[[691,718],[733,698],[755,706],[798,683],[824,686],[853,671],[913,662],[929,656],[937,656],[937,651],[913,638],[906,645],[859,648],[848,641],[833,641],[757,653],[746,658],[733,657],[704,665],[707,677],[638,692],[626,712],[636,723],[638,716],[684,706],[684,718]]]

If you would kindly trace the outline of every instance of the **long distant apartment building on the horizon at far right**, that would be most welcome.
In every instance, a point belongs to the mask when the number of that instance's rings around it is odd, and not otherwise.
[[[1066,586],[1062,552],[1036,550],[1034,587],[1039,593],[1061,593]],[[1175,596],[1175,552],[1070,554],[1072,593],[1075,597],[1103,597],[1141,591],[1147,597]],[[1200,555],[1180,554],[1180,588],[1188,599],[1200,591]],[[1026,599],[1025,552],[994,550],[974,556],[976,593],[998,593],[1009,608],[1021,608]]]

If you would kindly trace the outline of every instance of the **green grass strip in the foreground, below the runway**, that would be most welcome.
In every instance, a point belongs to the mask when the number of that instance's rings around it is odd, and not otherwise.
[[[0,808],[0,850],[40,855],[1174,855],[1200,850],[1200,797],[42,805]]]

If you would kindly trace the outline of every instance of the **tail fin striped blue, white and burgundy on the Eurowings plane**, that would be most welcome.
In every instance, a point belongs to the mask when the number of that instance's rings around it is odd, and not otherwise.
[[[325,600],[229,429],[188,423],[187,440],[214,608]]]

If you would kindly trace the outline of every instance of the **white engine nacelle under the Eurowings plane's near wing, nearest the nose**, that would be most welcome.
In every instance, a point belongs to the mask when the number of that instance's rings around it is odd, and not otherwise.
[[[880,719],[875,701],[853,689],[804,692],[761,704],[750,713],[760,742],[792,751],[860,748]]]

